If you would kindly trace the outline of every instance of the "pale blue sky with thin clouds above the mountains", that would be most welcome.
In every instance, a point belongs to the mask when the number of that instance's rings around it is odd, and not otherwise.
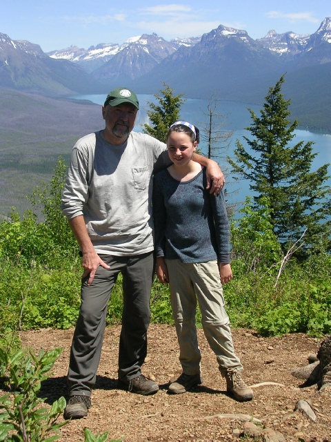
[[[269,30],[313,34],[331,17],[327,0],[175,1],[0,0],[0,32],[50,52],[122,44],[152,32],[168,41],[198,37],[219,25],[245,30],[252,39]]]

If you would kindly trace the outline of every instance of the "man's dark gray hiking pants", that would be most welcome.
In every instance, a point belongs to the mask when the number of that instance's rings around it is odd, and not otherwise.
[[[110,265],[110,269],[99,266],[92,285],[87,285],[88,278],[82,280],[81,308],[72,339],[68,370],[70,396],[91,394],[100,362],[107,305],[119,273],[123,276],[119,379],[126,381],[139,376],[147,354],[153,252],[137,256],[100,257]]]

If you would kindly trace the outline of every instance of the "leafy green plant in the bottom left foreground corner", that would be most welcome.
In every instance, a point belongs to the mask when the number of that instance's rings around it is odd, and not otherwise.
[[[57,423],[66,407],[61,397],[50,410],[42,407],[46,399],[38,397],[41,382],[48,378],[55,360],[62,349],[45,352],[38,356],[26,354],[19,349],[11,356],[0,348],[0,363],[8,377],[8,394],[0,397],[0,441],[53,442],[59,439],[59,428],[66,421]]]

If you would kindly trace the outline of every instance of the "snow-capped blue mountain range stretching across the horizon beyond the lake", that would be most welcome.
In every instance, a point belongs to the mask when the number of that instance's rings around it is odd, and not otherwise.
[[[312,35],[270,30],[252,39],[220,25],[202,37],[165,41],[159,35],[87,50],[44,53],[0,34],[0,86],[41,95],[107,93],[123,85],[154,94],[162,83],[185,97],[261,104],[281,75],[283,93],[301,125],[331,132],[331,17]]]

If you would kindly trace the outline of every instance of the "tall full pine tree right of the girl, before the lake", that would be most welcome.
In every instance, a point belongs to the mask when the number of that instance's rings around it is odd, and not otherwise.
[[[298,240],[306,229],[306,241],[312,244],[321,235],[330,236],[330,186],[328,166],[310,171],[317,153],[312,152],[314,142],[294,144],[297,120],[288,119],[290,100],[281,94],[284,76],[269,89],[265,104],[257,116],[249,109],[252,124],[246,128],[253,139],[243,137],[234,151],[236,161],[228,158],[232,172],[250,180],[254,202],[261,205],[267,195],[270,201],[274,233],[282,243]]]

